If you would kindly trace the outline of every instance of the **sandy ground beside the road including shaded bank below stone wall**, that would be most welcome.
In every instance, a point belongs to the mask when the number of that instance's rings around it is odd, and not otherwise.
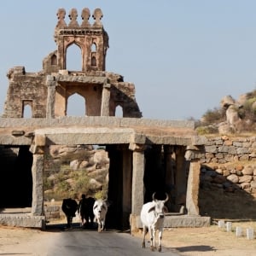
[[[221,199],[221,200],[220,200]],[[211,212],[212,225],[202,228],[171,228],[164,230],[162,245],[183,256],[253,256],[256,255],[256,198],[244,191],[225,193],[216,186],[200,190],[201,215]],[[232,223],[232,230],[218,227],[218,220]],[[242,219],[242,220],[241,220]],[[65,223],[63,220],[49,224]],[[236,227],[242,236],[236,236]],[[246,230],[253,228],[253,239],[247,239]],[[0,255],[46,256],[49,241],[58,230],[22,229],[0,226]],[[133,236],[142,239],[142,230]],[[147,241],[149,237],[147,236]],[[146,247],[149,247],[147,242]]]

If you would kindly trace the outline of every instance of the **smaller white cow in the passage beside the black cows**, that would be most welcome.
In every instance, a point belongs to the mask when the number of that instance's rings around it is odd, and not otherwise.
[[[98,224],[98,232],[105,229],[106,214],[108,212],[109,203],[107,200],[98,199],[93,205],[93,213]]]

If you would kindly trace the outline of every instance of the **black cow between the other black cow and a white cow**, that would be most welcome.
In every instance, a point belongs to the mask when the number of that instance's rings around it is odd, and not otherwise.
[[[78,212],[80,214],[81,222],[84,227],[92,228],[94,213],[93,213],[93,205],[95,199],[92,197],[85,197],[82,195],[81,200],[79,201]]]

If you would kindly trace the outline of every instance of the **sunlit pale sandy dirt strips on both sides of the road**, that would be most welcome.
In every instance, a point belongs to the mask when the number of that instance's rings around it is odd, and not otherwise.
[[[236,236],[236,227],[242,236]],[[164,230],[163,247],[172,248],[189,256],[252,256],[256,255],[256,239],[247,239],[247,228],[256,230],[256,222],[232,222],[232,230],[218,224],[202,228],[171,228]],[[56,230],[38,230],[0,226],[0,254],[47,255],[49,241],[55,239]],[[254,234],[255,235],[255,234]],[[141,230],[134,236],[142,238]],[[149,247],[149,238],[147,236]]]

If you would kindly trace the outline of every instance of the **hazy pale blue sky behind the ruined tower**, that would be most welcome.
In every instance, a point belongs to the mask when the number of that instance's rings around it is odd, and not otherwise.
[[[69,23],[70,9],[77,9],[80,23],[85,7],[91,15],[102,9],[106,71],[135,84],[143,118],[200,119],[224,96],[256,89],[255,0],[6,0],[0,2],[0,114],[9,68],[41,71],[56,49],[57,10],[66,9]]]

